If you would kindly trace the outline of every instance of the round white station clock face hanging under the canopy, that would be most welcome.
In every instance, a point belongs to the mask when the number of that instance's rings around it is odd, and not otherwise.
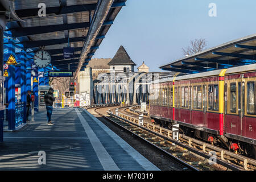
[[[51,55],[46,51],[38,51],[34,56],[34,63],[39,68],[46,68],[51,63]]]

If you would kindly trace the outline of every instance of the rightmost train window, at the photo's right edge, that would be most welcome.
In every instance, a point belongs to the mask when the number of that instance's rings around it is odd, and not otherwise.
[[[255,114],[254,82],[247,82],[247,114]]]

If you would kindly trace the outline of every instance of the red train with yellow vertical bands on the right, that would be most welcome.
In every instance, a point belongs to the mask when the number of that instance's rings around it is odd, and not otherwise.
[[[159,80],[150,117],[184,134],[255,158],[256,64]]]

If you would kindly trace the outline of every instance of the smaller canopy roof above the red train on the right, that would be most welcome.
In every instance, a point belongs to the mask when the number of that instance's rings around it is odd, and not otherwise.
[[[186,74],[256,63],[256,34],[221,44],[161,65],[166,71]]]

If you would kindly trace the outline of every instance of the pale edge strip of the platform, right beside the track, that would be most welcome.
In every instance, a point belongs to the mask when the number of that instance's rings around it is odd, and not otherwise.
[[[90,114],[87,110],[82,108],[85,113],[88,115],[104,130],[106,133],[112,137],[115,142],[119,144],[134,160],[136,160],[146,171],[160,171],[158,167],[152,164],[149,160],[147,160],[143,155],[141,155],[137,150],[130,146],[125,140],[115,134],[112,130],[106,127],[99,119],[95,118],[92,114]]]

